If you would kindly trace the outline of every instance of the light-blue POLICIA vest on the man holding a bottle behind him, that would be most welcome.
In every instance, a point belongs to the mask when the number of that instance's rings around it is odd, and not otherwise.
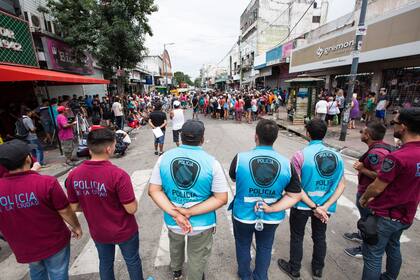
[[[257,220],[254,209],[257,201],[264,200],[270,205],[282,198],[292,176],[290,161],[269,146],[239,153],[237,160],[233,216],[237,221],[253,224]],[[284,211],[264,213],[263,222],[278,224],[284,216]]]

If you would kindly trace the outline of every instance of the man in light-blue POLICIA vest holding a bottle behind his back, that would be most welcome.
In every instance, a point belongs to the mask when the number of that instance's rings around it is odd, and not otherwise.
[[[285,218],[284,210],[301,199],[296,171],[288,159],[273,149],[278,131],[274,121],[260,120],[255,134],[256,147],[237,154],[229,169],[230,178],[236,181],[236,196],[230,208],[233,208],[238,275],[244,280],[268,279],[276,229]],[[260,202],[265,212],[262,217],[256,215],[258,209],[254,210]],[[261,224],[262,228],[258,228]],[[252,272],[250,252],[254,235],[257,255]]]

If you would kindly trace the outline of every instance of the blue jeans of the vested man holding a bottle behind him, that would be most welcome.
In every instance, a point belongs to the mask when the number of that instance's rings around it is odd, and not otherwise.
[[[234,218],[232,220],[239,277],[241,280],[267,280],[267,271],[271,262],[271,250],[278,225],[264,224],[263,231],[256,231],[254,224],[244,224],[236,221]],[[255,270],[252,273],[250,268],[250,250],[254,233],[257,254],[255,256]]]

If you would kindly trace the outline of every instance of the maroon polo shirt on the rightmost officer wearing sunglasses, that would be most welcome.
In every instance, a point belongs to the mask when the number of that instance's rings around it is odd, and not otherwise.
[[[389,185],[369,208],[378,216],[412,224],[420,202],[420,141],[406,143],[388,154],[378,178]]]

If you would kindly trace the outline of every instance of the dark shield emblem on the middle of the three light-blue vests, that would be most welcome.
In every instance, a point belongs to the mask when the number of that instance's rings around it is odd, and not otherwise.
[[[275,158],[258,156],[250,160],[249,168],[254,183],[258,187],[269,188],[279,177],[281,166]]]

